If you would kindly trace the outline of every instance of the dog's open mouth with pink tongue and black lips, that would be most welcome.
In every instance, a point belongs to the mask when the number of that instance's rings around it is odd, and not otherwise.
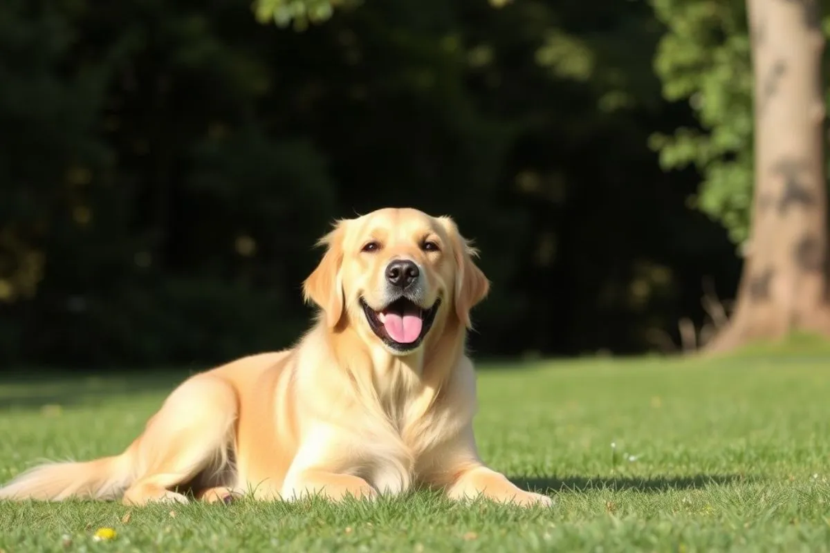
[[[427,336],[441,299],[428,309],[421,308],[407,298],[398,298],[380,311],[370,308],[364,298],[360,298],[360,304],[373,332],[389,347],[407,352],[418,347]]]

